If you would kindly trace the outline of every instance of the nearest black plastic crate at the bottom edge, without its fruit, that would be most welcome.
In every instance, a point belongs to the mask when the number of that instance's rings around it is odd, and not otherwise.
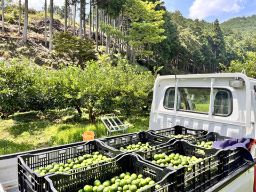
[[[46,176],[46,191],[77,192],[85,185],[92,185],[94,180],[103,182],[125,172],[142,174],[143,177],[150,177],[155,181],[154,185],[140,191],[177,191],[177,171],[155,166],[153,163],[145,163],[141,157],[131,153],[118,155],[112,162],[81,172],[71,172],[69,175],[55,173]],[[156,185],[161,187],[155,190]]]

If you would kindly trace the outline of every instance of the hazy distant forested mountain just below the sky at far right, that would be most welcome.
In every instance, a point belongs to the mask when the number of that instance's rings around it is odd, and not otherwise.
[[[232,30],[239,30],[244,33],[256,33],[256,15],[252,15],[251,17],[243,16],[229,19],[221,23],[220,26],[230,27]]]

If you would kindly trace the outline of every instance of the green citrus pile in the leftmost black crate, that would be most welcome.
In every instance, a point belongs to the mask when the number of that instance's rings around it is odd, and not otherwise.
[[[95,151],[92,154],[85,154],[83,156],[76,157],[73,160],[68,159],[65,164],[57,164],[56,162],[54,162],[51,165],[47,165],[46,167],[40,167],[39,169],[34,170],[34,172],[37,172],[40,175],[45,175],[47,173],[62,173],[66,171],[71,171],[84,166],[88,166],[86,169],[90,169],[91,166],[89,165],[100,163],[103,161],[107,161],[106,163],[108,163],[111,161],[111,158],[101,155],[99,151]]]

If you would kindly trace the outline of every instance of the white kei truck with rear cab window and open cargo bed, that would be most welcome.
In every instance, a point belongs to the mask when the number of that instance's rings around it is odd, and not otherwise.
[[[244,73],[158,76],[154,85],[149,131],[183,126],[230,138],[254,139],[255,92],[256,79]],[[74,146],[78,144],[74,143]],[[57,148],[65,148],[65,145],[52,149]],[[49,148],[0,156],[0,191],[18,191],[18,155],[46,150]],[[250,153],[255,160],[255,145]],[[253,191],[254,165],[250,162],[243,164],[204,191]]]

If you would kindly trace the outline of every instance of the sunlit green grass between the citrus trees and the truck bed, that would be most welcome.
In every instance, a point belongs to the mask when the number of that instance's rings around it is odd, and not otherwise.
[[[148,130],[149,111],[118,117],[134,126],[126,133]],[[0,119],[0,155],[83,141],[82,134],[90,130],[98,138],[107,137],[100,117],[95,125],[91,124],[85,109],[82,116],[74,108],[15,113],[8,119]],[[118,134],[123,132],[111,133],[111,136]]]

